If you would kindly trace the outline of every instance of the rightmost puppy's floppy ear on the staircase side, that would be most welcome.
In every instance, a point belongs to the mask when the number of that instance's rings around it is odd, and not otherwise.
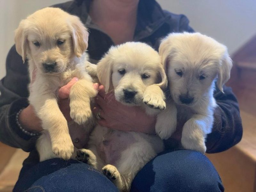
[[[220,60],[219,69],[218,69],[218,88],[221,92],[223,92],[223,85],[228,81],[230,78],[230,71],[232,68],[232,60],[228,55],[227,50],[224,53],[224,56]],[[223,92],[224,93],[224,92]]]

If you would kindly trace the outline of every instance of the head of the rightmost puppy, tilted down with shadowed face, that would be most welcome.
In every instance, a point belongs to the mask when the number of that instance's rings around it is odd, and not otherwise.
[[[227,47],[200,33],[173,33],[159,47],[173,100],[193,106],[230,77],[232,61]]]

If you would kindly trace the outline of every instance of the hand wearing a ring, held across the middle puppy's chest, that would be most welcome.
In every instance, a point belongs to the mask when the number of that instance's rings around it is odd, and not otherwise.
[[[102,119],[98,123],[110,129],[135,131],[155,134],[156,117],[149,116],[145,110],[137,106],[126,106],[116,101],[114,93],[105,94],[104,86],[100,85],[93,108],[95,115],[100,111]]]

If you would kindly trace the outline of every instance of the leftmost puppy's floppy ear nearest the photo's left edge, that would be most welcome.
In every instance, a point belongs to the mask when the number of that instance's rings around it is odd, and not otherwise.
[[[15,30],[15,47],[16,51],[22,57],[23,62],[25,63],[27,57],[27,49],[28,49],[28,40],[26,35],[26,28],[25,28],[25,20],[21,20],[19,27]]]

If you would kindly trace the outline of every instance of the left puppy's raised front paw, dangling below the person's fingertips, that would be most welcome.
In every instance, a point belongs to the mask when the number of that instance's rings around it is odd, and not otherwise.
[[[70,101],[70,117],[79,125],[84,124],[92,117],[90,103],[83,101]]]

